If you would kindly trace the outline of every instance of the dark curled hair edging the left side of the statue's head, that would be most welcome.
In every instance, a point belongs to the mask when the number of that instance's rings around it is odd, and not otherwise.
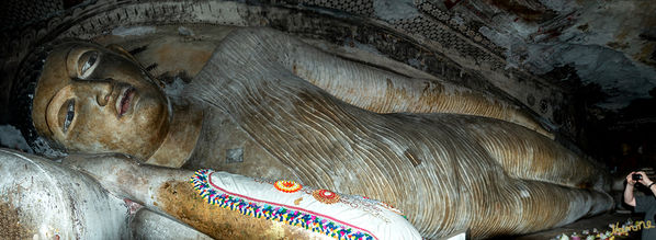
[[[32,104],[46,58],[58,43],[60,42],[41,45],[23,58],[13,78],[9,102],[11,124],[21,130],[34,153],[48,158],[64,157],[66,151],[56,142],[38,135],[32,119]]]

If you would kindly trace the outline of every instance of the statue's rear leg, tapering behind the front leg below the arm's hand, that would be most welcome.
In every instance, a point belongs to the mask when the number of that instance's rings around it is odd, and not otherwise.
[[[554,140],[517,125],[482,117],[460,117],[461,126],[512,178],[580,188],[608,188],[599,164],[581,158]]]

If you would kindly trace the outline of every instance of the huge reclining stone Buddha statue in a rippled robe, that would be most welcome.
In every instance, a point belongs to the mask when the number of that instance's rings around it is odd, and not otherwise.
[[[269,28],[230,32],[176,96],[122,47],[83,41],[32,53],[12,92],[37,152],[120,152],[366,196],[425,238],[520,235],[612,206],[604,170],[520,108]]]

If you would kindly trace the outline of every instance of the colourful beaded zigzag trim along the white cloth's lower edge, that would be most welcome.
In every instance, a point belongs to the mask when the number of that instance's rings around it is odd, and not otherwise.
[[[211,176],[213,173],[214,171],[212,170],[201,169],[190,179],[193,187],[207,201],[208,204],[217,205],[224,209],[238,210],[246,216],[257,218],[264,217],[267,220],[276,220],[291,226],[302,227],[306,230],[320,232],[335,239],[377,239],[374,235],[364,229],[358,229],[321,214],[293,206],[276,205],[270,202],[230,193],[212,184]]]

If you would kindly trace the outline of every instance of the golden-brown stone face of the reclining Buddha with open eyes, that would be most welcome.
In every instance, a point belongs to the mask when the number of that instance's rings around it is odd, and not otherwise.
[[[58,45],[34,95],[37,132],[72,152],[122,152],[147,159],[169,126],[166,95],[120,47]]]

